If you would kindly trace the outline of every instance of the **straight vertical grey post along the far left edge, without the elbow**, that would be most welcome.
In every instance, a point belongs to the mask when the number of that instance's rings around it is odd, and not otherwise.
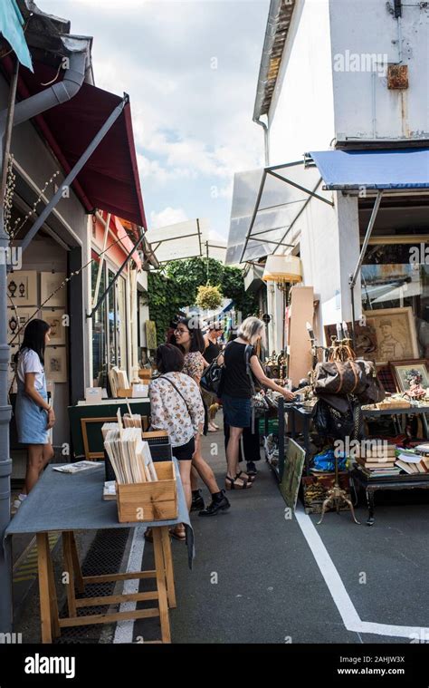
[[[10,497],[12,460],[10,458],[9,424],[12,409],[8,404],[9,346],[7,344],[7,265],[6,250],[9,237],[5,232],[4,199],[12,129],[14,123],[14,102],[18,82],[18,60],[14,64],[14,73],[9,87],[9,103],[5,131],[0,133],[2,155],[2,181],[0,188],[0,538],[4,538],[5,528],[10,521]],[[0,547],[0,632],[11,633],[13,622],[12,611],[12,576],[10,547]]]

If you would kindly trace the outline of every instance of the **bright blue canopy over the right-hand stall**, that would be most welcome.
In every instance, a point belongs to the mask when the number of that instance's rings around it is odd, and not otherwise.
[[[315,150],[323,189],[429,189],[429,149]]]

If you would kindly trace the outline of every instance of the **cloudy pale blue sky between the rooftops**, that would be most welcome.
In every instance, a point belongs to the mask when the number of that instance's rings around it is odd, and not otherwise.
[[[149,228],[208,218],[226,238],[234,171],[260,167],[252,121],[269,0],[37,0],[94,37],[100,88],[131,99]]]

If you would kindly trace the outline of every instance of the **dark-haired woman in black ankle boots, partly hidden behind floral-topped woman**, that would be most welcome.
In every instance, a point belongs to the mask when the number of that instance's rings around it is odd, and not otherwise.
[[[197,318],[179,318],[175,330],[176,344],[185,354],[185,365],[183,373],[191,377],[199,387],[201,376],[207,365],[205,362],[203,351],[205,350],[205,341],[203,333],[198,326]],[[200,394],[201,397],[201,394]],[[200,476],[201,480],[210,490],[212,501],[206,509],[199,512],[199,516],[215,516],[219,511],[225,511],[230,508],[230,503],[224,494],[224,489],[219,489],[215,479],[215,473],[210,468],[208,463],[203,459],[201,453],[201,434],[203,426],[195,436],[195,453],[192,457],[192,466]],[[193,483],[193,493],[199,495],[197,489],[198,484],[195,476],[191,475],[191,482]],[[199,498],[201,499],[201,498]],[[203,503],[204,504],[204,503]],[[203,506],[203,505],[202,505]]]

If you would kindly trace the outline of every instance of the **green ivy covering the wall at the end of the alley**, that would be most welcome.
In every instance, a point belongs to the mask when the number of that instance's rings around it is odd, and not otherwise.
[[[207,279],[208,272],[208,279]],[[243,273],[238,267],[224,266],[214,258],[174,260],[165,270],[148,274],[150,319],[157,325],[157,341],[164,342],[168,325],[177,311],[196,304],[199,286],[221,285],[222,295],[234,301],[243,318],[257,313],[253,295],[244,291]]]

